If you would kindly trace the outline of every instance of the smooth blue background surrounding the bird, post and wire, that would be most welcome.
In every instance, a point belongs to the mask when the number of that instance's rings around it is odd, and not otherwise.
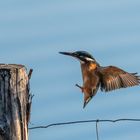
[[[0,3],[0,61],[33,68],[31,125],[140,118],[140,87],[101,93],[85,109],[77,60],[86,50],[103,65],[140,73],[139,0],[30,0]],[[100,140],[140,139],[140,123],[100,123]],[[29,131],[30,140],[93,140],[95,124]]]

